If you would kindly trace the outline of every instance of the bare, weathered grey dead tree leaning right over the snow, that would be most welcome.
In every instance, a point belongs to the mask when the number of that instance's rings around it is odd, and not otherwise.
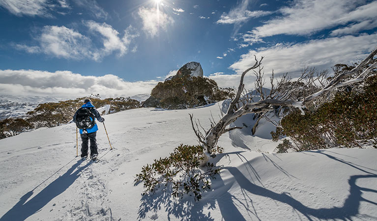
[[[264,94],[262,91],[264,82],[262,80],[263,73],[261,71],[263,68],[261,67],[261,61],[263,60],[263,57],[258,60],[255,56],[255,64],[241,74],[240,83],[235,97],[229,105],[228,111],[217,123],[211,122],[211,128],[209,130],[204,130],[199,121],[199,125],[197,121],[195,121],[196,127],[194,126],[193,115],[190,114],[193,130],[198,137],[198,141],[204,148],[204,160],[202,165],[205,165],[208,161],[209,154],[211,153],[212,148],[217,145],[218,139],[221,135],[234,129],[239,129],[239,127],[227,128],[227,126],[234,122],[238,117],[248,113],[265,113],[266,111],[273,110],[274,106],[298,108],[301,110],[301,113],[304,114],[303,108],[320,98],[328,96],[330,92],[336,88],[352,83],[359,83],[365,80],[373,70],[377,68],[376,55],[377,49],[361,61],[355,68],[335,76],[326,85],[324,84],[324,80],[327,73],[321,72],[316,75],[314,69],[304,69],[301,76],[296,81],[291,81],[288,75],[284,74],[276,83],[274,83],[274,74],[272,73],[272,77],[270,78],[271,90],[268,95]],[[255,71],[257,68],[259,68],[258,71]],[[245,93],[243,79],[246,73],[250,70],[253,70],[257,77],[255,87],[260,94],[260,100],[257,102],[254,102],[253,96],[244,96],[243,99],[241,99],[241,94]],[[316,86],[317,89],[315,89]],[[299,97],[296,94],[298,91],[303,91],[304,93],[309,91],[311,93],[304,94],[303,99],[299,100]],[[204,134],[200,132],[199,127],[205,132]]]

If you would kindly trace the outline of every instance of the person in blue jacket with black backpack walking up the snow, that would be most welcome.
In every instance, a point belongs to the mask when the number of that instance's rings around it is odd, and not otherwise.
[[[85,99],[84,105],[81,106],[82,108],[87,108],[90,112],[94,114],[94,117],[97,118],[99,122],[104,122],[105,118],[101,117],[97,109],[95,109],[94,105],[91,104],[90,99]],[[76,123],[76,111],[75,115],[73,115],[73,122]],[[81,158],[82,160],[86,160],[88,156],[88,141],[90,141],[90,159],[95,161],[97,160],[98,156],[98,147],[97,147],[97,140],[96,134],[98,131],[97,124],[94,124],[91,128],[87,128],[87,133],[83,133],[83,130],[80,129],[80,137],[81,137]]]

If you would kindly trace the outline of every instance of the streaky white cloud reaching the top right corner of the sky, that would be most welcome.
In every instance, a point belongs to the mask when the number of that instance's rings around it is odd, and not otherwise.
[[[307,35],[325,28],[333,28],[338,25],[355,24],[363,21],[362,28],[354,27],[353,30],[368,28],[372,21],[377,19],[377,1],[359,6],[364,3],[360,0],[295,0],[290,7],[279,10],[281,17],[271,19],[266,24],[255,28],[252,33],[259,37],[273,36],[277,34]],[[369,27],[368,29],[370,29]],[[344,33],[349,32],[344,31]],[[339,31],[340,33],[342,31]],[[334,32],[336,34],[337,32]]]

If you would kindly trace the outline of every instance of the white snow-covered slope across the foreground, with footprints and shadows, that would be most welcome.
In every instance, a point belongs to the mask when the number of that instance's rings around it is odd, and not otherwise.
[[[142,196],[135,174],[180,143],[197,144],[188,113],[208,128],[219,106],[226,104],[106,115],[114,149],[99,124],[97,164],[76,157],[74,124],[1,139],[0,221],[377,219],[377,149],[274,154],[273,126],[262,121],[254,136],[248,127],[220,138],[225,153],[211,161],[224,168],[199,202],[161,191]],[[251,125],[244,117],[234,124]]]

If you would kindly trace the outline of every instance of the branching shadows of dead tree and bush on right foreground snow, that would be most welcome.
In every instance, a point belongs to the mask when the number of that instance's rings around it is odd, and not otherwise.
[[[377,190],[363,188],[356,185],[356,182],[360,179],[377,178],[376,173],[368,172],[366,170],[370,169],[375,171],[374,169],[347,162],[343,159],[327,154],[326,151],[309,151],[316,154],[324,154],[332,160],[336,160],[342,164],[346,164],[363,172],[363,174],[353,175],[349,177],[349,194],[347,198],[344,200],[344,204],[342,207],[334,206],[332,208],[314,209],[303,205],[300,201],[290,196],[289,193],[276,193],[268,190],[267,188],[264,188],[259,178],[258,172],[252,166],[252,162],[247,161],[246,158],[242,156],[242,152],[243,151],[237,151],[227,154],[219,154],[212,163],[216,164],[222,157],[228,156],[230,154],[236,154],[238,157],[245,160],[245,164],[247,164],[247,167],[250,167],[248,168],[250,177],[252,177],[252,174],[254,174],[256,180],[250,181],[249,178],[246,178],[245,175],[236,167],[223,167],[223,169],[227,169],[233,175],[234,180],[230,182],[228,181],[227,184],[225,184],[221,176],[217,175],[216,179],[212,180],[212,190],[203,193],[203,198],[199,202],[194,201],[193,197],[188,196],[183,197],[179,200],[174,199],[174,197],[172,197],[171,195],[171,193],[173,192],[171,187],[166,187],[163,190],[160,189],[158,192],[154,194],[144,195],[141,199],[141,205],[139,207],[139,219],[145,219],[145,216],[148,212],[157,212],[158,210],[161,210],[163,206],[165,208],[165,211],[168,212],[168,220],[170,220],[170,216],[173,215],[175,218],[178,218],[181,221],[213,221],[214,219],[211,217],[210,212],[204,214],[203,209],[206,208],[208,210],[214,210],[216,208],[215,205],[217,202],[222,215],[222,219],[224,221],[246,221],[253,218],[261,220],[258,216],[258,211],[255,209],[253,204],[253,195],[264,196],[269,199],[288,204],[296,212],[301,213],[310,221],[312,221],[313,219],[339,219],[346,221],[352,220],[352,218],[355,217],[369,217],[368,215],[359,214],[361,202],[364,201],[377,206],[377,202],[373,202],[362,197],[363,192],[377,193]],[[264,155],[263,157],[266,160],[270,161],[277,169],[281,170],[285,175],[289,176],[290,178],[295,178],[267,156]],[[244,199],[240,200],[237,197],[233,196],[231,193],[229,193],[229,190],[231,189],[234,182],[237,182],[240,186]],[[256,182],[260,183],[261,186],[256,185]],[[235,202],[237,204],[235,204]],[[244,210],[246,210],[246,212],[248,213],[249,217],[244,217],[244,215],[242,215],[239,211],[239,207],[244,208]]]

